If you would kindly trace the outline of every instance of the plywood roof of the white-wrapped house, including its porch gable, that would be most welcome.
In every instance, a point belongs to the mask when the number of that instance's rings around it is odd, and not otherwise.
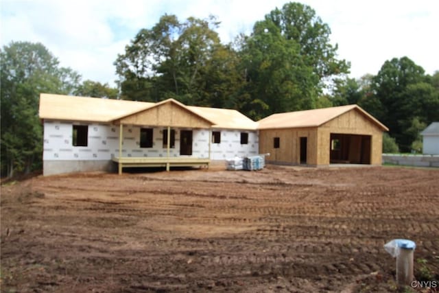
[[[257,130],[237,110],[186,106],[175,99],[158,103],[40,94],[40,119],[144,126]]]

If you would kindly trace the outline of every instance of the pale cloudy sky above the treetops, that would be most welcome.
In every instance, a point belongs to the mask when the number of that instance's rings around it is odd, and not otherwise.
[[[180,21],[217,16],[228,43],[250,34],[286,0],[0,0],[0,45],[42,43],[82,80],[115,86],[117,54],[142,28],[164,14]],[[331,28],[338,58],[351,62],[351,78],[377,74],[385,60],[407,56],[428,74],[439,71],[438,0],[303,0]]]

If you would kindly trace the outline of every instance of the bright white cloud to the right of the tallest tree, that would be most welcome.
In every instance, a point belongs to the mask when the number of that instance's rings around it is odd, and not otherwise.
[[[328,1],[325,1],[328,3]],[[332,2],[331,2],[332,3]],[[439,4],[436,1],[336,1],[316,8],[333,32],[351,75],[376,74],[385,60],[407,56],[427,73],[439,70]],[[320,13],[321,11],[321,13]]]

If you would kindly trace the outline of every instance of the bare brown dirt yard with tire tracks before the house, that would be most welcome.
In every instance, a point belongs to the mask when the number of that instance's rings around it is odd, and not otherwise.
[[[438,280],[438,169],[38,176],[1,187],[1,291],[391,292],[394,238]]]

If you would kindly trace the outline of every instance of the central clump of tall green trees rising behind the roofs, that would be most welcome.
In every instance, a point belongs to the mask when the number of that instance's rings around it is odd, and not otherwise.
[[[115,61],[121,98],[174,97],[259,119],[315,108],[324,80],[348,72],[348,62],[337,60],[337,45],[329,42],[329,26],[307,5],[273,10],[234,44],[220,43],[218,25],[212,16],[181,22],[165,14],[140,30]]]

